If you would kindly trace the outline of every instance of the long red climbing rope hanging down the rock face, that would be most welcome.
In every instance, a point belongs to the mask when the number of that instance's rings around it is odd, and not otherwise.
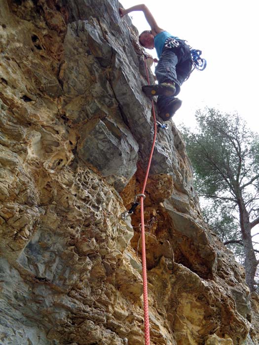
[[[145,57],[145,66],[147,72],[148,85],[150,85],[148,77],[148,67],[147,67],[147,58]],[[142,194],[145,192],[148,173],[150,169],[151,159],[153,156],[153,151],[155,147],[156,140],[156,118],[155,118],[155,109],[154,102],[152,101],[152,113],[154,118],[154,138],[153,144],[150,151],[150,156],[148,160],[148,167],[146,171],[145,180],[143,183]],[[145,220],[144,220],[144,197],[140,197],[140,206],[141,206],[141,239],[142,239],[142,277],[143,277],[143,299],[144,299],[144,326],[145,326],[145,345],[150,345],[150,336],[149,336],[149,317],[148,317],[148,279],[147,279],[147,262],[146,262],[146,243],[145,243]]]

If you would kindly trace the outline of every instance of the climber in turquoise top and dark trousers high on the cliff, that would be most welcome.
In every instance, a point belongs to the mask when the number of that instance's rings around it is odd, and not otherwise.
[[[144,31],[139,35],[140,44],[148,49],[155,48],[159,58],[155,68],[158,84],[145,85],[142,90],[148,97],[158,96],[158,114],[164,121],[167,121],[182,105],[182,101],[175,96],[179,94],[180,86],[191,72],[190,48],[184,40],[159,28],[145,4],[127,9],[119,8],[121,17],[133,11],[143,11],[151,28],[150,31]]]

